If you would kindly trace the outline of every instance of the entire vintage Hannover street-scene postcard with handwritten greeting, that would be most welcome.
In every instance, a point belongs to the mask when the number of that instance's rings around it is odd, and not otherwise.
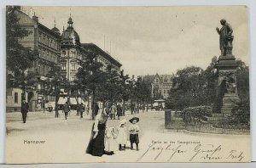
[[[7,164],[250,162],[246,6],[6,6]]]

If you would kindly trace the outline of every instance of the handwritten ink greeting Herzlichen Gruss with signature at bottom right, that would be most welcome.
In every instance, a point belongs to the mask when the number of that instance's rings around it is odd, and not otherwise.
[[[154,141],[148,145],[145,152],[137,159],[154,161],[182,160],[183,162],[221,162],[230,160],[242,162],[245,159],[243,151],[225,150],[222,145],[202,144],[191,141]]]

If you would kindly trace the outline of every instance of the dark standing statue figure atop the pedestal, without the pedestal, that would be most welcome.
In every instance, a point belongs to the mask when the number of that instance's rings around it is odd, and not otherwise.
[[[220,20],[220,24],[223,25],[222,28],[219,30],[217,27],[216,31],[219,34],[219,49],[221,55],[232,55],[232,42],[234,39],[234,36],[232,36],[233,30],[226,20]]]

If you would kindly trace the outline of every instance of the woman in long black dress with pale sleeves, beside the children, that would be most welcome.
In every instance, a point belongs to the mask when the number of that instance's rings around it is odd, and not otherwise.
[[[104,137],[107,120],[108,114],[105,109],[96,115],[96,120],[91,130],[90,142],[86,148],[86,154],[93,156],[102,156],[104,154]]]

